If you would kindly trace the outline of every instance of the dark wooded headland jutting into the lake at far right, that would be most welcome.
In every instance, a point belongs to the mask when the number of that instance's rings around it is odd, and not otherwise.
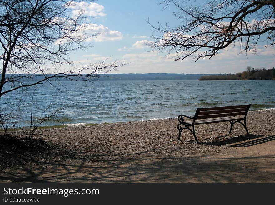
[[[201,76],[199,80],[275,80],[275,68],[254,69],[248,66],[242,73]]]

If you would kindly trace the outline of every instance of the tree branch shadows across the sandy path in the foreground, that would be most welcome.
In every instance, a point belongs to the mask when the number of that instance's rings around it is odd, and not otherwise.
[[[63,158],[63,160],[54,159]],[[261,157],[134,156],[124,159],[54,155],[0,173],[1,182],[31,183],[274,183],[275,155]],[[265,174],[263,175],[263,170]]]

